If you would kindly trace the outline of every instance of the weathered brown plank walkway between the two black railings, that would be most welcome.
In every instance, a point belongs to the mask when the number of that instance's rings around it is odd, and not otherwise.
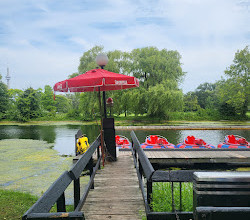
[[[82,211],[87,220],[142,219],[145,208],[131,152],[119,152],[116,162],[96,173]]]

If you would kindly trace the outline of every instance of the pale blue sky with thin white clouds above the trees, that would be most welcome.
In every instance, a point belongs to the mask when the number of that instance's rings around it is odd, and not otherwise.
[[[0,0],[0,74],[10,88],[53,86],[80,57],[154,46],[177,50],[184,93],[224,75],[250,45],[250,0]]]

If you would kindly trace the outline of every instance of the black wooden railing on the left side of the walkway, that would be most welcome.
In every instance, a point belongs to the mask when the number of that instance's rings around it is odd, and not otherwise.
[[[41,198],[23,215],[22,219],[84,219],[84,213],[81,208],[87,198],[90,189],[94,188],[94,177],[96,171],[100,168],[101,155],[99,152],[101,140],[100,136],[91,144],[89,149],[83,154],[77,163],[69,170],[65,171],[42,195]],[[93,154],[97,151],[97,163],[93,167]],[[80,195],[80,176],[84,169],[90,172],[90,180],[85,191]],[[66,212],[65,190],[74,182],[74,211]],[[50,213],[50,209],[56,203],[57,212]]]

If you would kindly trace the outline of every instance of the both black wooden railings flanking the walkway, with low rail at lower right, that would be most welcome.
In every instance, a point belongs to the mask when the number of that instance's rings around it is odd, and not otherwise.
[[[136,168],[139,186],[142,192],[144,200],[146,216],[148,220],[189,220],[195,216],[193,212],[182,211],[182,196],[181,186],[182,182],[193,181],[193,170],[176,170],[176,171],[164,171],[155,170],[146,156],[144,150],[140,147],[135,133],[131,132],[132,138],[132,155],[134,159],[134,165]],[[96,171],[100,168],[101,155],[99,152],[101,140],[100,136],[91,144],[86,153],[80,157],[78,162],[69,171],[64,172],[43,194],[41,198],[23,215],[22,219],[85,219],[84,213],[81,209],[86,201],[90,189],[94,188],[94,177]],[[93,154],[97,151],[97,163],[93,166]],[[80,176],[84,169],[90,171],[90,180],[82,194],[80,193]],[[65,190],[74,183],[74,211],[66,212],[65,206]],[[155,182],[170,182],[172,184],[172,212],[154,212],[152,210],[152,195],[153,195],[153,183]],[[179,182],[180,184],[180,200],[176,210],[176,204],[173,194],[173,182]],[[146,186],[146,190],[145,190]],[[57,212],[50,213],[52,206],[57,205]],[[197,207],[195,210],[195,219],[220,219],[221,213],[227,216],[242,216],[241,219],[249,219],[250,208],[249,207]],[[210,217],[215,216],[215,217]],[[219,216],[219,217],[218,217]],[[245,218],[247,217],[247,218]]]

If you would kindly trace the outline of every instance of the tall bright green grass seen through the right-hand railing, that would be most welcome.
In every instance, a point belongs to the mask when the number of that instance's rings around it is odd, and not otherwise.
[[[193,211],[193,184],[182,183],[182,211]],[[172,212],[171,183],[153,184],[153,201],[151,203],[154,212]],[[175,209],[180,210],[180,183],[174,183]]]

